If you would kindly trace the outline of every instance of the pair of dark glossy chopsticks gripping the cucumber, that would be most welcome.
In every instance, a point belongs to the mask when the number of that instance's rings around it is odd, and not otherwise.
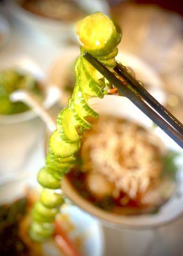
[[[148,118],[183,148],[183,125],[175,116],[155,100],[122,65],[116,63],[116,67],[113,68],[113,72],[111,72],[88,52],[83,52],[83,57],[95,67],[100,74],[106,77],[110,83],[118,88],[123,96],[131,100]],[[122,78],[123,81],[120,78]],[[124,81],[127,84],[125,84]]]

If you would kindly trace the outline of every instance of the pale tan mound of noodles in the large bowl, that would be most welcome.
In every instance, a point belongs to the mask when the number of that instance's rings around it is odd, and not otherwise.
[[[136,199],[163,170],[159,140],[133,122],[101,116],[84,134],[81,157],[84,172],[99,172],[129,198]]]

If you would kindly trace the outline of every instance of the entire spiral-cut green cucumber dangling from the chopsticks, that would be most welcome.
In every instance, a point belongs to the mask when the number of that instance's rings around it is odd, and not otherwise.
[[[81,136],[91,124],[87,117],[98,114],[88,106],[91,97],[104,97],[107,81],[82,56],[84,50],[98,58],[107,67],[114,67],[116,46],[121,34],[115,24],[102,13],[93,13],[77,25],[77,34],[83,46],[76,62],[76,85],[67,108],[57,118],[56,131],[51,135],[45,166],[38,173],[38,182],[44,188],[33,208],[33,222],[29,234],[35,241],[45,241],[54,232],[54,220],[63,195],[58,193],[61,178],[73,166]]]

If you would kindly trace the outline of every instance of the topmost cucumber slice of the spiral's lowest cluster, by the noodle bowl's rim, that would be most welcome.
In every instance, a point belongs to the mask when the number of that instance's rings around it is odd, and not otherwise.
[[[62,195],[46,188],[42,190],[40,200],[47,208],[58,207],[64,203]]]

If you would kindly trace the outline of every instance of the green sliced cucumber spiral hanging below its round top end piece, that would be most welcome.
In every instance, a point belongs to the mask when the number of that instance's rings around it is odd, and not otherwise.
[[[106,67],[114,67],[114,58],[118,54],[116,45],[118,45],[120,39],[121,33],[116,29],[116,35],[102,49],[88,52]],[[52,133],[50,138],[49,153],[46,157],[45,167],[38,173],[38,182],[43,187],[43,190],[38,204],[35,204],[33,209],[33,223],[29,230],[29,236],[41,243],[52,236],[54,232],[52,225],[55,221],[56,213],[64,202],[63,196],[56,195],[55,190],[60,189],[62,177],[76,162],[75,154],[79,150],[83,132],[92,127],[86,118],[88,116],[93,118],[99,116],[88,106],[88,99],[92,97],[103,98],[104,90],[107,86],[107,81],[104,77],[100,77],[100,74],[95,70],[93,73],[93,67],[82,56],[83,51],[84,47],[81,47],[81,54],[76,61],[76,86],[67,106],[70,110],[63,109],[58,115],[57,130]],[[73,126],[70,125],[68,129],[67,125],[65,126],[66,121],[69,124],[72,118],[74,118],[74,124]]]

